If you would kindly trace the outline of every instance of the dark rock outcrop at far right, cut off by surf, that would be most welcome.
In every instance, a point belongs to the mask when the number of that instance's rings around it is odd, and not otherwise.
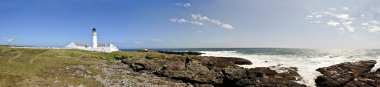
[[[379,86],[378,72],[369,73],[375,66],[375,60],[345,62],[330,67],[318,68],[317,71],[322,73],[315,80],[319,87],[367,87]]]

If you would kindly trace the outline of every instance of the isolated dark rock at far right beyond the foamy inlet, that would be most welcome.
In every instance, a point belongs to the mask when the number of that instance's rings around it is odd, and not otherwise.
[[[355,80],[356,77],[369,72],[375,64],[375,60],[368,60],[345,62],[329,67],[318,68],[317,71],[323,75],[318,76],[315,82],[319,87],[342,87],[348,82]]]

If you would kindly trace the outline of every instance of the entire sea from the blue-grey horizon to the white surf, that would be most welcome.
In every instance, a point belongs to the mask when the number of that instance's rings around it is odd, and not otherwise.
[[[163,51],[195,51],[201,56],[239,57],[250,60],[252,65],[245,68],[271,67],[281,72],[280,67],[297,67],[301,80],[298,83],[314,87],[316,69],[343,62],[376,60],[380,62],[380,49],[299,49],[299,48],[171,48],[154,49]],[[380,67],[376,64],[372,71]]]

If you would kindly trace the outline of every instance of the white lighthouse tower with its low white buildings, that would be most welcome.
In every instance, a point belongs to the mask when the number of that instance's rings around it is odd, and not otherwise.
[[[88,50],[88,51],[99,51],[99,52],[113,52],[113,51],[119,51],[119,49],[113,45],[113,44],[98,44],[98,37],[96,33],[96,29],[92,29],[92,46],[89,47],[86,44],[78,44],[71,42],[69,45],[67,45],[65,48],[68,49],[80,49],[80,50]]]

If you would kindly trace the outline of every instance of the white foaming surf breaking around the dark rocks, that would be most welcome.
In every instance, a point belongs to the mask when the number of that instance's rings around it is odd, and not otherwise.
[[[202,52],[202,51],[200,51]],[[249,60],[253,63],[253,65],[239,65],[244,68],[255,68],[255,67],[270,67],[272,70],[275,70],[277,72],[282,72],[279,70],[281,67],[297,67],[298,71],[297,73],[300,74],[300,76],[303,78],[301,81],[298,81],[301,84],[306,84],[310,87],[315,87],[315,79],[317,79],[318,76],[322,75],[320,72],[315,71],[318,68],[321,67],[328,67],[336,64],[340,64],[343,62],[355,62],[355,61],[361,61],[361,60],[376,60],[380,61],[379,59],[372,59],[372,58],[345,58],[345,57],[338,57],[338,58],[284,58],[281,56],[254,56],[249,54],[238,54],[236,51],[221,51],[218,53],[217,51],[203,51],[202,56],[218,56],[218,57],[239,57],[246,60]],[[283,61],[283,62],[281,62]],[[284,62],[285,61],[285,62]],[[298,62],[297,62],[298,61]],[[297,64],[300,63],[300,64]],[[310,64],[315,64],[313,66],[310,66]],[[375,64],[374,68],[372,68],[371,72],[376,71],[378,68],[380,68],[380,64]]]

